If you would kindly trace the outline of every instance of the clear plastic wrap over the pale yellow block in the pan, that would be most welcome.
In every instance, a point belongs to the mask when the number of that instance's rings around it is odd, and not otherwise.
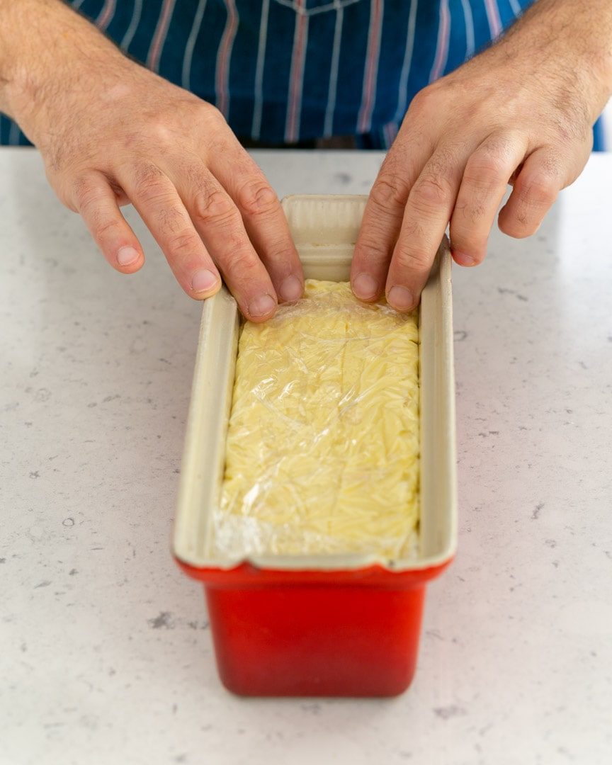
[[[308,280],[243,325],[214,546],[405,558],[417,529],[416,314]]]

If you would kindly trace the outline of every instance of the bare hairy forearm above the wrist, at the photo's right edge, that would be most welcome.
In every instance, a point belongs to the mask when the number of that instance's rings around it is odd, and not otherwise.
[[[612,95],[612,2],[537,0],[500,41],[507,57],[529,57],[585,97],[591,121]]]

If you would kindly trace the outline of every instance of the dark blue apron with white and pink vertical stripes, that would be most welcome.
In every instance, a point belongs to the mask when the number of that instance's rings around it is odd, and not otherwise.
[[[418,90],[532,0],[72,0],[147,67],[214,103],[239,138],[352,135],[388,148]],[[596,132],[601,142],[601,132]],[[0,118],[0,143],[27,144]],[[599,147],[598,147],[599,148]]]

